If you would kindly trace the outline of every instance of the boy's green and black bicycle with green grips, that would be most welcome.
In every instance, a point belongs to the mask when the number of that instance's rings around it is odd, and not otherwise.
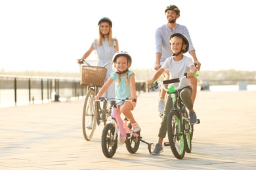
[[[179,95],[181,90],[181,82],[185,80],[187,73],[184,73],[182,78],[174,78],[171,80],[155,81],[154,88],[161,86],[167,93],[171,95],[173,102],[173,109],[167,115],[167,134],[169,143],[164,143],[165,146],[170,146],[175,158],[181,160],[184,158],[185,152],[190,153],[192,151],[192,137],[194,133],[194,125],[189,123],[188,111],[186,106],[182,102]],[[196,73],[194,76],[198,76]],[[170,84],[180,82],[179,86],[171,86],[165,88],[164,84]],[[200,124],[200,119],[196,124]]]

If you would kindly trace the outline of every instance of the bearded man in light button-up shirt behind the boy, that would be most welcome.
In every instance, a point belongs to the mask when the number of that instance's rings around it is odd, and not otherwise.
[[[176,20],[180,17],[180,10],[176,5],[169,5],[165,9],[165,16],[167,18],[167,24],[162,25],[158,29],[156,29],[156,62],[154,69],[158,71],[165,61],[165,59],[173,56],[173,52],[171,51],[171,46],[169,44],[169,39],[173,33],[182,33],[188,38],[190,47],[188,49],[189,54],[194,59],[194,64],[197,65],[198,71],[200,70],[201,63],[196,58],[196,50],[192,44],[190,39],[190,35],[188,33],[188,29],[184,25],[180,25],[176,23]],[[168,71],[163,72],[164,80],[169,79]],[[191,83],[193,85],[192,91],[192,101],[194,103],[196,99],[196,91],[197,91],[197,79],[191,78]],[[165,90],[161,90],[160,99],[158,100],[158,111],[163,114],[164,106],[165,106]]]

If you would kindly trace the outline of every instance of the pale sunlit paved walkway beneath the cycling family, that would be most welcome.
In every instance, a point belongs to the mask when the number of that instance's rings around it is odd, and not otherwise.
[[[141,93],[133,111],[141,135],[156,144],[158,92]],[[151,156],[140,143],[136,154],[119,145],[102,154],[96,127],[91,141],[81,129],[83,101],[0,109],[0,169],[256,169],[256,92],[198,92],[192,152],[177,160],[169,146]],[[167,139],[165,139],[166,141]]]

